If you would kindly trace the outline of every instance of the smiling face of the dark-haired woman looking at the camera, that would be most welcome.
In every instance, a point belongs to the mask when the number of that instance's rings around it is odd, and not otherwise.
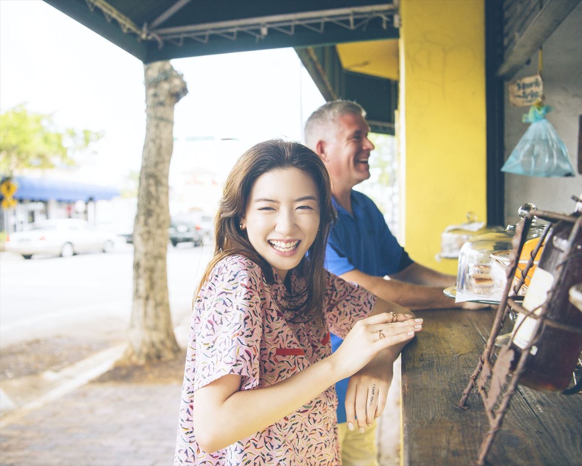
[[[251,245],[283,280],[315,240],[320,199],[313,179],[297,168],[274,170],[255,181],[241,223]]]

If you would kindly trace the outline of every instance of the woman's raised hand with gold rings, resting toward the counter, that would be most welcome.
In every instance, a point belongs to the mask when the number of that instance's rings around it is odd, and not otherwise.
[[[358,372],[380,351],[410,341],[423,327],[423,319],[410,316],[383,312],[356,322],[338,350],[329,356],[341,371],[338,379]]]

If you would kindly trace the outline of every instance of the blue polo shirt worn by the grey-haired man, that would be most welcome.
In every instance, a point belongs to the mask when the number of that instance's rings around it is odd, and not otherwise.
[[[365,274],[384,277],[406,269],[413,261],[390,232],[384,216],[370,197],[352,190],[352,211],[350,214],[332,199],[338,211],[338,220],[329,232],[325,252],[325,268],[341,275],[350,270],[360,270]],[[342,344],[342,338],[332,334],[332,350]],[[338,392],[338,422],[346,422],[347,381],[335,384]]]

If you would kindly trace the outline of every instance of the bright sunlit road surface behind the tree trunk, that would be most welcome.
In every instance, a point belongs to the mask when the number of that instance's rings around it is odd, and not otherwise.
[[[168,288],[175,326],[188,326],[191,300],[214,245],[168,245]],[[112,253],[24,260],[0,253],[0,348],[70,334],[122,336],[132,310],[133,246]]]

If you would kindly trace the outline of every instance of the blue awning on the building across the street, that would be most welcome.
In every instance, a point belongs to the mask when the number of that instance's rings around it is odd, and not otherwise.
[[[77,200],[101,200],[119,196],[119,190],[107,186],[87,185],[70,181],[59,181],[48,178],[28,178],[15,176],[18,184],[14,195],[18,200],[60,200],[75,202]],[[1,199],[1,197],[0,197]]]

